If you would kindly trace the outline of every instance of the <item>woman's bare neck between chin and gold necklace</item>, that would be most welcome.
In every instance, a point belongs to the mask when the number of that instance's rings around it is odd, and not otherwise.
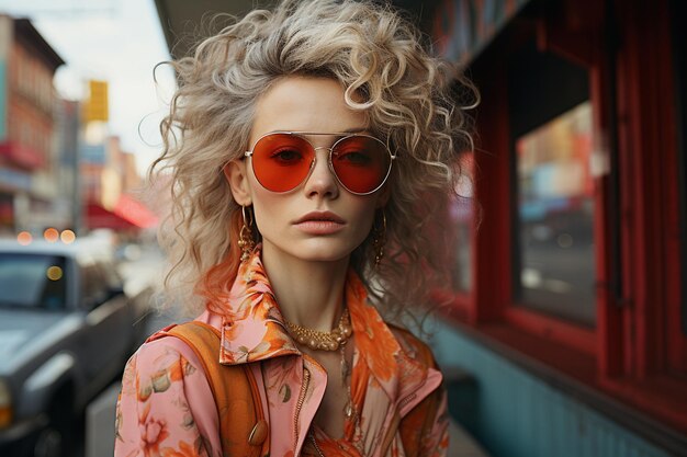
[[[262,251],[262,264],[282,316],[308,329],[331,330],[344,310],[348,258],[312,262],[282,254]]]

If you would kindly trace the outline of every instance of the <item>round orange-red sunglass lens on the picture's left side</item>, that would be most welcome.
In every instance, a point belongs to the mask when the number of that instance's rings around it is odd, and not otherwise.
[[[267,135],[252,149],[252,171],[268,191],[288,192],[305,180],[313,155],[313,148],[304,138]]]

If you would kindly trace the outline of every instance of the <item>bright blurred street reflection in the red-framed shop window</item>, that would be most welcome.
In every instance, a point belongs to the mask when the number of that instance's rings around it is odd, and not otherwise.
[[[592,105],[516,140],[520,305],[596,322]]]

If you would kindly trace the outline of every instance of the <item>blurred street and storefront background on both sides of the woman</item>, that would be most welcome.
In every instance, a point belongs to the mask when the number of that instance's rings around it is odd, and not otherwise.
[[[187,319],[157,294],[154,68],[272,3],[0,0],[0,456],[112,454],[124,363]],[[432,216],[451,455],[687,456],[687,2],[388,3],[481,92]]]

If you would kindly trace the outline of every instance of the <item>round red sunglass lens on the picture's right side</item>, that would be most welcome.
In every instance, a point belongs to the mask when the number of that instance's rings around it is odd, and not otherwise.
[[[379,139],[352,136],[336,145],[331,165],[346,188],[356,194],[367,194],[376,190],[386,179],[391,156]]]

